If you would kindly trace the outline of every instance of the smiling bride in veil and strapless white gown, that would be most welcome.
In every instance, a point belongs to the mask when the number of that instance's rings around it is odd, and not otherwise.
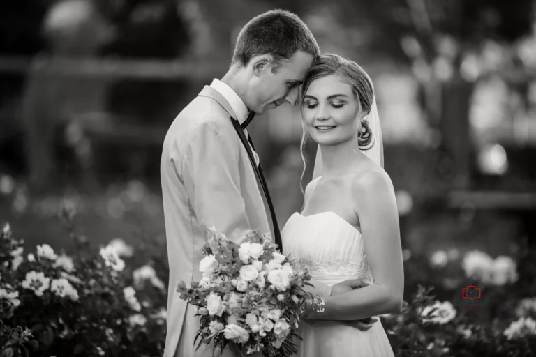
[[[303,211],[283,228],[283,251],[318,282],[359,278],[367,285],[325,297],[325,312],[306,312],[297,331],[304,339],[297,341],[298,355],[394,356],[380,321],[367,331],[351,324],[399,312],[403,298],[399,220],[394,188],[382,168],[372,81],[355,62],[324,54],[303,89],[302,148],[306,135],[319,148]]]

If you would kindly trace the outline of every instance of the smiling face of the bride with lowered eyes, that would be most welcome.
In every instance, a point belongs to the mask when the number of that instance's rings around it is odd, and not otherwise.
[[[357,138],[359,103],[350,84],[336,75],[315,79],[301,106],[309,135],[320,145],[337,145]]]

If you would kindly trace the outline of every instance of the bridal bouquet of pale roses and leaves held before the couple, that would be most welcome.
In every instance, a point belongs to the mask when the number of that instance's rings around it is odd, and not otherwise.
[[[181,281],[177,291],[200,315],[195,336],[215,351],[229,347],[247,354],[287,357],[296,353],[292,325],[298,326],[306,303],[322,312],[323,301],[304,291],[311,275],[294,259],[276,251],[269,235],[256,231],[237,245],[216,228],[209,229],[200,282]],[[200,343],[201,343],[200,341]]]

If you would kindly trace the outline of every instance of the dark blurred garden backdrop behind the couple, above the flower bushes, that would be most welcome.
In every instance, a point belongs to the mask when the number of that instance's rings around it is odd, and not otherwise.
[[[73,208],[104,243],[163,241],[165,132],[228,68],[241,26],[297,13],[323,52],[375,82],[405,256],[522,257],[536,239],[535,1],[34,0],[0,13],[0,221],[27,245],[70,242]],[[251,132],[283,226],[301,209],[299,111]],[[266,134],[265,134],[266,133]],[[308,143],[304,182],[315,145]]]

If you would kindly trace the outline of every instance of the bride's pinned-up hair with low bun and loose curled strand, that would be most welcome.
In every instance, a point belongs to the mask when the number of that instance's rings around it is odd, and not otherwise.
[[[371,77],[354,61],[343,59],[337,54],[322,54],[317,57],[313,66],[308,71],[301,92],[301,105],[304,103],[304,96],[311,83],[316,79],[327,77],[328,75],[336,75],[341,82],[349,84],[354,93],[355,99],[359,103],[360,115],[359,119],[363,119],[366,114],[371,112],[374,102],[374,86]],[[304,171],[301,173],[301,179],[305,172],[305,157],[304,146],[307,139],[307,129],[301,121],[301,159],[304,162]],[[366,146],[372,141],[371,128],[366,120],[361,120],[359,132],[357,134],[357,143],[359,148],[366,150]]]

